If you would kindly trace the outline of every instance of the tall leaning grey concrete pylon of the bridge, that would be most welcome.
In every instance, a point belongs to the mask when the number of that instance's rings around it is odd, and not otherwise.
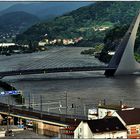
[[[115,55],[109,62],[108,68],[115,69],[107,69],[104,73],[106,76],[128,75],[140,71],[140,64],[134,57],[134,45],[139,23],[140,12],[133,19],[128,31],[119,44]]]

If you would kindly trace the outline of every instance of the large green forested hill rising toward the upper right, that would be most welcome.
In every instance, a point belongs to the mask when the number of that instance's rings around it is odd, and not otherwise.
[[[114,25],[130,24],[139,9],[139,1],[96,2],[50,22],[36,24],[18,35],[16,40],[18,43],[40,41],[45,34],[52,39],[81,36],[85,44],[90,42],[86,45],[92,45],[103,41],[106,31]]]

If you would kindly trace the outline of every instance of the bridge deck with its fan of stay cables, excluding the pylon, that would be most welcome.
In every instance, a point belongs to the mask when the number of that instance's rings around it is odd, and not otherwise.
[[[46,52],[1,56],[0,76],[103,71],[108,69],[94,56],[81,55],[80,52],[84,49],[55,48]]]

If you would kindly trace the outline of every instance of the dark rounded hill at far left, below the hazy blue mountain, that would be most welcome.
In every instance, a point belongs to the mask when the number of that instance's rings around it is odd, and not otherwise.
[[[0,39],[10,38],[37,23],[39,19],[26,12],[12,12],[0,16]]]

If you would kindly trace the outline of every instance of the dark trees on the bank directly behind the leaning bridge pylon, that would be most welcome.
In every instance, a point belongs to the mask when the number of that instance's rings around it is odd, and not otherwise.
[[[104,48],[102,49],[99,60],[108,63],[112,56],[108,55],[109,51],[116,51],[121,39],[125,35],[129,25],[118,25],[109,30],[104,38]],[[140,61],[140,27],[138,28],[137,37],[134,46],[134,54],[137,61]]]

